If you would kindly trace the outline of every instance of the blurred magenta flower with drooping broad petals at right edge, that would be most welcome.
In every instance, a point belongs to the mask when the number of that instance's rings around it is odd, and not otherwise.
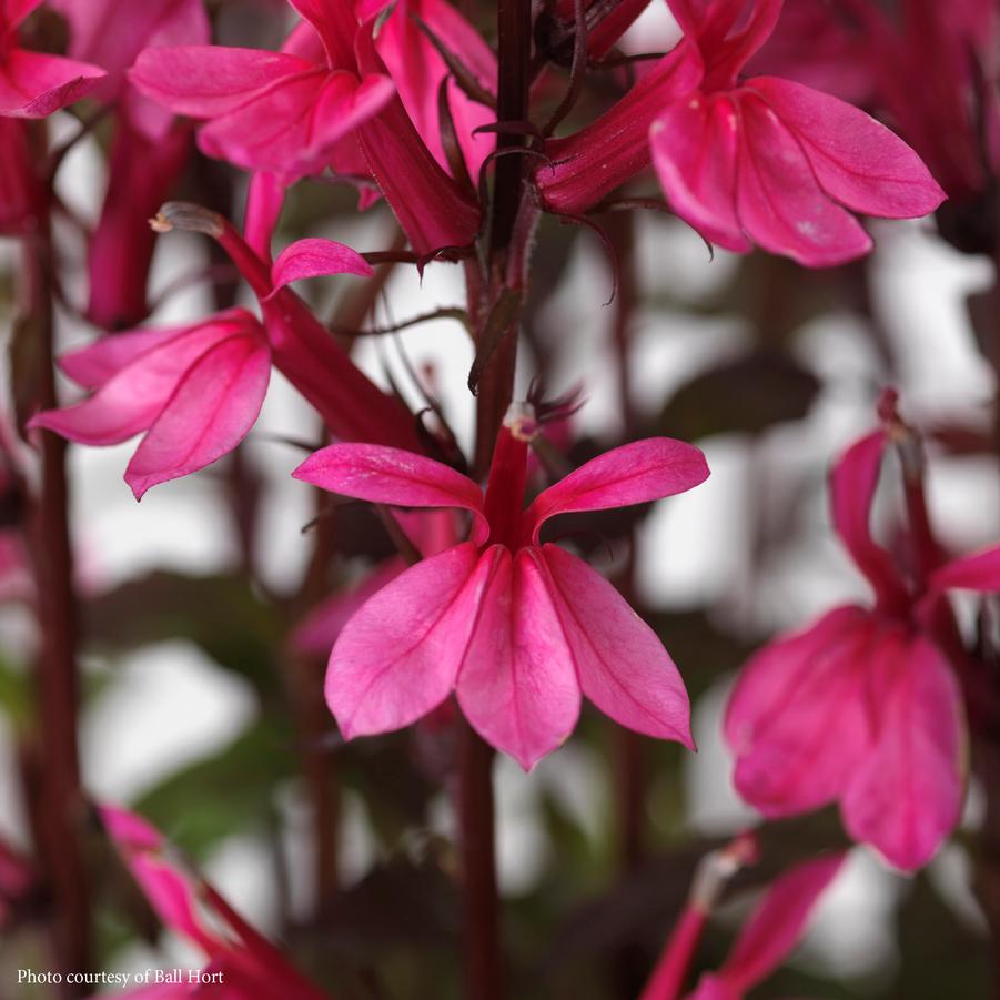
[[[905,572],[869,534],[888,435],[853,445],[831,481],[834,524],[875,606],[840,607],[744,668],[726,714],[739,794],[768,817],[839,801],[847,831],[897,868],[925,865],[954,828],[966,723],[950,588],[1000,589],[1000,548]],[[922,504],[922,501],[921,501]],[[949,661],[949,659],[951,661]]]

